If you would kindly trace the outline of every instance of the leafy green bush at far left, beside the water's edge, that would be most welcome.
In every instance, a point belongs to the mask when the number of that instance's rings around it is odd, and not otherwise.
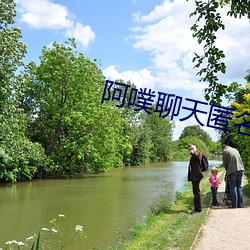
[[[23,124],[21,124],[21,121]],[[16,182],[32,179],[47,164],[44,149],[25,136],[25,116],[5,110],[0,115],[0,179]]]

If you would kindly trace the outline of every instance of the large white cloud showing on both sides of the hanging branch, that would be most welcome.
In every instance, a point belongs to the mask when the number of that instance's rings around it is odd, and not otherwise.
[[[183,89],[198,92],[206,87],[195,85],[197,69],[193,69],[194,52],[201,53],[202,46],[192,37],[189,18],[195,9],[194,1],[165,0],[151,12],[133,15],[137,23],[132,29],[134,48],[149,52],[155,72],[155,85],[167,89]],[[221,10],[226,30],[218,34],[217,44],[225,51],[227,74],[220,76],[225,82],[243,79],[250,68],[250,25],[247,18],[235,19]],[[201,93],[201,92],[200,92]]]

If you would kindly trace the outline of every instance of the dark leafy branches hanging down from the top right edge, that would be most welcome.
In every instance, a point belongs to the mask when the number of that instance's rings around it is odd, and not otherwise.
[[[230,87],[219,83],[218,74],[226,72],[226,65],[222,61],[225,58],[223,50],[216,47],[216,33],[225,29],[222,22],[219,7],[230,5],[228,15],[235,18],[248,16],[250,19],[249,0],[200,0],[196,2],[196,9],[190,16],[197,16],[196,22],[191,27],[193,37],[197,38],[199,44],[204,43],[202,55],[195,53],[193,62],[199,68],[200,81],[209,83],[205,89],[205,99],[210,103],[220,104],[221,97],[228,91],[233,91]],[[203,65],[205,67],[201,68]]]

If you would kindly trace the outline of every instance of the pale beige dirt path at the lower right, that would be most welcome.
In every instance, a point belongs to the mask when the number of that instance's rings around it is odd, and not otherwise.
[[[223,202],[225,182],[218,188],[219,207],[211,207],[191,249],[250,249],[250,199],[244,196],[244,207],[230,209]]]

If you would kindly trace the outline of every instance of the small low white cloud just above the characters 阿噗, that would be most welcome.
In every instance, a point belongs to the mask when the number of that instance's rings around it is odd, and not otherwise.
[[[136,85],[136,88],[154,89],[154,77],[151,72],[144,68],[139,71],[127,70],[119,73],[114,65],[111,65],[103,70],[104,76],[108,80],[122,79],[124,81],[131,81]]]

